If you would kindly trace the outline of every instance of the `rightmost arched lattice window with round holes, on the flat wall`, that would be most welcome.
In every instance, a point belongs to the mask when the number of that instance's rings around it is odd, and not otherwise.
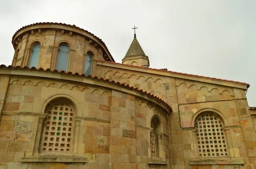
[[[204,113],[195,120],[199,157],[228,156],[224,130],[221,119]]]

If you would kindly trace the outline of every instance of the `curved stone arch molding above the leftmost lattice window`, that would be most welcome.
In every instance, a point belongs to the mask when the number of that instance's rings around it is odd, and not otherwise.
[[[41,105],[41,113],[44,114],[44,111],[46,110],[47,105],[58,98],[65,98],[65,99],[70,100],[76,110],[76,115],[77,116],[82,115],[82,108],[81,108],[81,105],[79,104],[79,102],[72,96],[66,95],[66,94],[54,94],[52,96],[49,96],[47,99],[45,99],[44,103]]]

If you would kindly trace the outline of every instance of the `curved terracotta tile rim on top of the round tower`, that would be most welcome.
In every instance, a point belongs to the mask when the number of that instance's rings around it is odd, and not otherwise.
[[[103,42],[102,39],[100,39],[99,37],[96,37],[94,34],[90,33],[89,31],[84,30],[83,28],[79,28],[79,27],[77,27],[76,25],[69,25],[69,24],[65,24],[65,23],[43,22],[43,23],[33,23],[33,24],[30,24],[30,25],[23,26],[22,28],[20,28],[19,30],[17,30],[17,31],[15,32],[15,34],[12,36],[12,45],[14,45],[14,37],[15,37],[15,35],[16,35],[20,30],[22,30],[22,29],[24,29],[24,28],[27,28],[27,27],[29,27],[29,26],[34,26],[34,25],[47,25],[47,24],[57,24],[57,25],[70,26],[70,27],[77,28],[77,29],[80,29],[80,30],[82,30],[82,31],[85,31],[85,32],[87,32],[88,34],[91,34],[93,37],[95,37],[96,39],[98,39],[99,42],[101,42],[101,43],[104,45],[104,47],[107,49],[107,51],[108,51],[108,53],[109,53],[111,59],[113,60],[113,62],[115,62],[115,59],[112,57],[110,51],[108,50],[108,47],[106,46],[105,42]]]

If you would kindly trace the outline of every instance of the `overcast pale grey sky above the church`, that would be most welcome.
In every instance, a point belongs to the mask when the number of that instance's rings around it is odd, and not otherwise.
[[[36,22],[84,28],[116,62],[136,25],[151,68],[250,83],[249,106],[256,106],[256,0],[7,0],[0,6],[0,64],[12,64],[13,34]]]

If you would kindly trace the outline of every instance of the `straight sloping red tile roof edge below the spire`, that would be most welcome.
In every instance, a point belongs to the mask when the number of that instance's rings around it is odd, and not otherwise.
[[[199,76],[199,75],[193,75],[193,74],[188,74],[188,73],[180,73],[180,72],[174,72],[174,71],[163,70],[163,69],[146,68],[146,67],[143,67],[143,66],[136,66],[136,65],[126,65],[126,64],[122,64],[122,63],[109,62],[109,61],[105,61],[105,60],[97,60],[97,61],[98,62],[113,63],[113,64],[118,64],[118,65],[131,66],[131,67],[137,67],[137,68],[143,68],[143,69],[160,70],[160,71],[169,72],[169,73],[182,74],[182,75],[188,75],[188,76],[194,76],[194,77],[202,77],[202,78],[206,78],[206,79],[220,80],[220,81],[224,81],[224,82],[232,82],[232,83],[238,83],[238,84],[241,84],[241,85],[250,86],[248,83],[226,80],[226,79],[218,79],[218,78],[207,77],[207,76]]]

